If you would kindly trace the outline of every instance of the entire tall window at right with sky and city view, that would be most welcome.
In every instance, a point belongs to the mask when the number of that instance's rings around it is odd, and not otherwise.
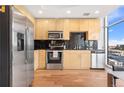
[[[124,66],[124,6],[108,16],[108,64]],[[111,25],[114,24],[114,25]]]

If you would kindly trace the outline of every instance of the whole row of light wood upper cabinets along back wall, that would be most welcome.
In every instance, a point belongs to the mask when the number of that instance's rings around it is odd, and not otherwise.
[[[65,40],[70,32],[87,32],[88,40],[98,40],[100,19],[37,19],[35,39],[48,39],[48,31],[63,31]]]

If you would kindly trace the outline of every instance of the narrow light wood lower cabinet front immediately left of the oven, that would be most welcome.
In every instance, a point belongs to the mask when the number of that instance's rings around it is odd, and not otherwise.
[[[46,68],[46,51],[39,50],[39,60],[38,60],[38,69]]]

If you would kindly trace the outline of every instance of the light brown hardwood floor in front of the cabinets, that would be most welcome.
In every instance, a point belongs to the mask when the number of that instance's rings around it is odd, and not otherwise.
[[[104,70],[37,70],[33,87],[106,87]]]

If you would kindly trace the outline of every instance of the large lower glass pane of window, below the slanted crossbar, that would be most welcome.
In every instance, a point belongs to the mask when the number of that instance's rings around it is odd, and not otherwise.
[[[108,29],[109,65],[124,66],[124,22]]]

